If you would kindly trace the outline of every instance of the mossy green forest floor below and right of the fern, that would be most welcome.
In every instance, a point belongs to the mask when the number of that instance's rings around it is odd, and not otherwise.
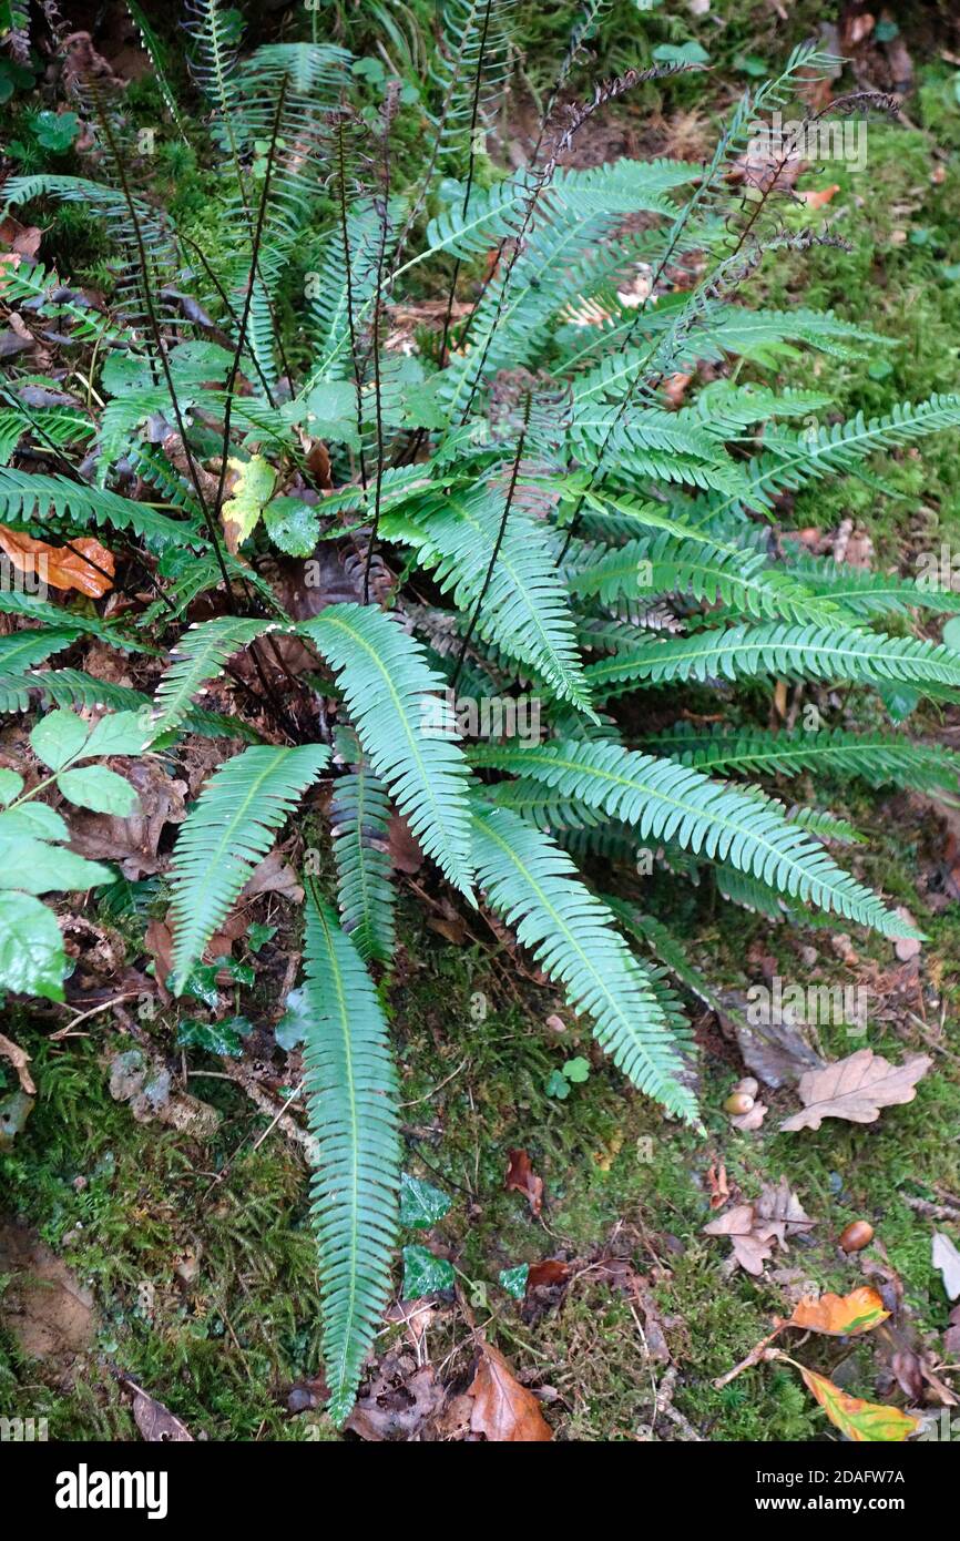
[[[744,49],[766,71],[789,32],[804,35],[803,11],[789,28],[749,34],[749,46],[746,23],[743,40],[732,28],[730,89],[743,85],[735,59]],[[832,162],[798,183],[834,188],[823,213],[852,253],[787,254],[764,270],[758,296],[832,307],[892,341],[880,358],[778,364],[778,385],[815,382],[844,415],[957,388],[960,60],[929,37],[909,48],[906,122],[871,122],[863,170]],[[664,97],[663,153],[693,156],[709,129],[683,92]],[[848,478],[806,492],[789,524],[820,532],[821,549],[848,561],[915,573],[942,546],[960,553],[957,465],[955,436],[931,439],[877,462],[886,490]],[[955,747],[960,717],[946,709],[925,729]],[[841,784],[829,806],[866,837],[851,861],[857,874],[925,931],[914,955],[837,926],[770,925],[715,908],[667,874],[647,878],[646,908],[709,957],[727,1006],[697,1016],[706,1137],[633,1094],[522,959],[502,938],[492,951],[481,920],[439,905],[424,914],[404,898],[390,1006],[407,1170],[451,1204],[402,1241],[448,1259],[456,1287],[413,1308],[398,1299],[342,1436],[322,1412],[296,1140],[270,1126],[217,1056],[194,1054],[179,1086],[219,1122],[185,1134],[137,1122],[111,1096],[111,1062],[116,1093],[116,1054],[131,1045],[111,1012],[57,1039],[48,1022],[14,1019],[40,1096],[11,1136],[18,1094],[12,1071],[0,1071],[3,1228],[6,1254],[45,1282],[23,1288],[17,1270],[0,1276],[0,1412],[48,1418],[59,1439],[131,1439],[134,1382],[194,1438],[448,1439],[462,1435],[456,1393],[482,1331],[538,1393],[556,1438],[806,1441],[827,1424],[789,1367],[713,1382],[800,1294],[861,1284],[881,1291],[891,1322],[869,1341],[814,1339],[798,1358],[871,1401],[937,1412],[951,1387],[960,1396],[958,1331],[945,1339],[951,1305],[931,1257],[934,1233],[960,1242],[960,821],[915,795],[851,795]],[[774,979],[863,991],[866,1036],[832,1023],[807,1025],[800,1039],[824,1059],[861,1046],[895,1062],[931,1056],[915,1100],[868,1125],[781,1133],[795,1093],[764,1083],[763,1125],[733,1128],[724,1099],[758,1074],[737,1022],[750,985]],[[586,1079],[558,1076],[570,1060]],[[726,1188],[729,1207],[750,1205],[781,1182],[812,1225],[752,1276],[727,1237],[704,1234],[710,1200]],[[864,1251],[844,1253],[838,1236],[852,1220],[875,1234]],[[521,1301],[510,1270],[524,1264],[535,1271]]]

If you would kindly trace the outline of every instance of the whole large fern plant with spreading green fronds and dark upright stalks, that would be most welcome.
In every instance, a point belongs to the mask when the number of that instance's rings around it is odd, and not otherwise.
[[[530,949],[619,1073],[697,1128],[690,1037],[666,974],[715,997],[683,942],[636,906],[638,846],[678,875],[710,875],[732,903],[908,935],[831,852],[849,826],[775,792],[820,770],[957,784],[948,750],[875,721],[858,730],[854,709],[872,690],[895,723],[923,697],[960,698],[960,653],[917,619],[955,612],[955,595],[783,556],[769,521],[784,492],[868,475],[871,458],[958,427],[960,396],[795,431],[829,398],[724,378],[735,358],[763,371],[786,350],[883,345],[837,316],[750,310],[769,251],[834,237],[781,225],[777,179],[730,205],[727,173],[752,120],[835,62],[798,49],[744,94],[706,166],[572,170],[581,128],[656,72],[604,82],[566,109],[555,91],[530,162],[490,176],[510,12],[512,0],[447,8],[413,186],[394,177],[393,83],[357,114],[344,49],[314,40],[245,55],[217,0],[193,0],[186,49],[210,114],[197,148],[227,166],[228,239],[205,250],[154,205],[122,103],[97,82],[80,99],[89,176],[5,191],[17,210],[83,200],[116,240],[117,290],[96,324],[76,304],[57,311],[97,387],[69,427],[34,411],[14,371],[0,524],[74,550],[96,530],[125,603],[106,616],[69,592],[5,595],[0,703],[54,703],[60,720],[68,707],[134,712],[137,752],[174,764],[191,735],[223,740],[171,860],[174,994],[287,821],[299,828],[300,809],[327,820],[334,860],[302,885],[305,1093],[337,1422],[388,1301],[396,1236],[396,1076],[379,994],[396,945],[394,821],[438,883]],[[162,80],[170,133],[188,133]],[[690,253],[703,257],[692,290],[673,282]],[[59,304],[59,274],[23,262],[11,282],[35,308]],[[405,308],[422,322],[413,333]],[[718,378],[692,382],[672,410],[664,381],[703,361]],[[91,439],[92,476],[77,461]],[[22,464],[25,447],[43,450],[49,473]],[[884,615],[891,632],[877,626]],[[133,660],[137,689],[83,669],[91,636]],[[786,680],[848,684],[848,718],[818,735],[769,730],[758,701]],[[199,704],[210,689],[228,710]],[[683,706],[704,692],[727,723],[698,734]],[[524,703],[536,710],[518,732]],[[116,720],[99,720],[88,750]],[[59,815],[35,798],[22,809],[20,783],[0,775],[15,797],[0,815],[9,838],[60,838]],[[31,807],[40,828],[28,834]],[[99,880],[57,872],[55,888]],[[62,969],[40,914],[31,906],[28,937],[40,963],[25,974],[26,922],[14,932],[0,912],[11,989],[49,994]]]

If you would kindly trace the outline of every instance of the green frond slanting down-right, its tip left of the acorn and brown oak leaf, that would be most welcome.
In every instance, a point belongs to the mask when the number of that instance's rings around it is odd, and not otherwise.
[[[656,995],[570,858],[505,807],[478,806],[473,849],[488,903],[562,985],[575,1009],[593,1019],[596,1040],[613,1063],[667,1111],[698,1123]]]

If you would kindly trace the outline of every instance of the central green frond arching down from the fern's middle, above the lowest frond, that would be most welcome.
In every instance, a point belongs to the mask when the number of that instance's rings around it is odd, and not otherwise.
[[[472,897],[467,763],[447,734],[436,700],[444,681],[424,649],[370,606],[331,604],[297,630],[336,670],[364,752],[421,846]]]

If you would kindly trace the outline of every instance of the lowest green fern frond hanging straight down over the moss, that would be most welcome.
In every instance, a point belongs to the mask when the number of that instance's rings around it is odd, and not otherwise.
[[[328,1412],[342,1427],[390,1299],[401,1183],[398,1089],[370,975],[313,878],[304,888],[310,1213],[321,1264]]]

